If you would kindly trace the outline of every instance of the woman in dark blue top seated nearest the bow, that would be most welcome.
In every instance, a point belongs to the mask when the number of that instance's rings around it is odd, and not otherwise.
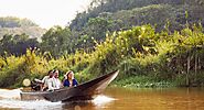
[[[72,70],[67,72],[65,74],[65,79],[63,81],[63,86],[64,87],[73,87],[73,86],[77,86],[77,85],[78,85],[78,82],[74,78],[74,73]]]

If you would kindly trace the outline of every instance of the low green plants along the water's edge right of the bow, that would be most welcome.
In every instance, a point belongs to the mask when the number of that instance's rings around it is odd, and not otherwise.
[[[112,87],[122,87],[122,88],[172,88],[172,87],[204,87],[204,84],[196,84],[191,80],[191,85],[186,85],[184,78],[176,79],[157,79],[152,76],[133,76],[133,77],[124,77],[122,79],[115,80]]]

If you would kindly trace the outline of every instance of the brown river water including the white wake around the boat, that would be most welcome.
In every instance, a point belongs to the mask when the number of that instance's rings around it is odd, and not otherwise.
[[[0,109],[7,110],[204,110],[203,88],[107,88],[92,101],[21,101],[20,89],[0,89]]]

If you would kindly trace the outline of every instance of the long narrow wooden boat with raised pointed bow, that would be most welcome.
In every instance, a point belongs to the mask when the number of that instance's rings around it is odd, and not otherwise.
[[[90,100],[101,94],[105,88],[118,75],[119,70],[111,72],[107,75],[80,84],[76,87],[62,88],[54,91],[22,91],[21,100],[49,100],[56,101],[73,101],[73,100]]]

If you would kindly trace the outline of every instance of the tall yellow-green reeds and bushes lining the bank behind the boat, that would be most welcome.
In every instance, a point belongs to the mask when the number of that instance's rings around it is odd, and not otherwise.
[[[106,36],[92,53],[77,51],[53,58],[49,53],[28,50],[19,57],[1,57],[0,86],[21,86],[22,79],[42,77],[53,68],[62,73],[78,72],[80,81],[119,69],[116,84],[121,86],[203,86],[203,44],[202,26],[186,28],[173,34],[157,33],[150,25],[136,26]]]

